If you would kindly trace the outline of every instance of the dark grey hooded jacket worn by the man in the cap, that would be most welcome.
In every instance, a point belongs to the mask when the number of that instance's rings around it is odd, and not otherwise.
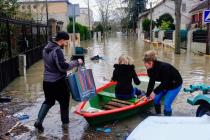
[[[43,50],[44,81],[55,82],[66,76],[66,71],[78,65],[77,61],[66,63],[60,46],[49,42]]]

